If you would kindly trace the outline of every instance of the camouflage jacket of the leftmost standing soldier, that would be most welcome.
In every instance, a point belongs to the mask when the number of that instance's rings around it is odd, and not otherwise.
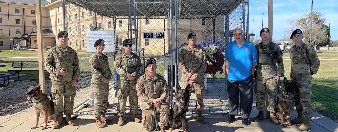
[[[46,70],[50,73],[50,79],[57,81],[80,80],[79,59],[73,48],[67,46],[63,49],[56,45],[48,51],[44,62]],[[67,70],[67,74],[64,76],[59,75],[62,68]]]

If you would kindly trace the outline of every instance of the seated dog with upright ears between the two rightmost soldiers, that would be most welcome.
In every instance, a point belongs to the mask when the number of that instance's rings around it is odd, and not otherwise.
[[[281,125],[283,127],[288,126],[292,126],[292,124],[290,123],[291,121],[291,115],[293,112],[293,107],[295,106],[295,99],[293,96],[293,93],[295,91],[296,88],[296,78],[292,80],[291,83],[288,82],[288,79],[286,77],[284,77],[284,88],[283,88],[283,92],[282,92],[282,97],[280,97],[278,100],[278,104],[277,104],[277,108],[278,111],[276,113],[277,118],[279,120],[281,120]],[[286,125],[284,123],[284,115],[287,114],[287,110],[289,110],[288,115],[286,115],[287,118],[287,122],[288,124]]]

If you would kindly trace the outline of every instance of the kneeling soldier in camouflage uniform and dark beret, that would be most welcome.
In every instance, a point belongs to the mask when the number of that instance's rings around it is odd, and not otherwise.
[[[168,102],[167,81],[156,73],[156,61],[153,58],[147,60],[145,67],[147,73],[142,75],[136,84],[137,96],[140,99],[143,127],[152,131],[155,124],[154,107],[160,112],[160,132],[165,132],[165,126],[169,122],[169,106],[157,102]]]

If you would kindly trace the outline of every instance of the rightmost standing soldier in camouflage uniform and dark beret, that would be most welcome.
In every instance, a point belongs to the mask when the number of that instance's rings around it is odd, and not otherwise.
[[[312,75],[316,74],[320,65],[317,53],[313,46],[305,44],[303,32],[296,29],[292,32],[290,39],[295,45],[290,48],[291,59],[291,78],[296,79],[295,106],[298,117],[291,120],[292,124],[302,124],[299,130],[307,131],[310,129],[309,120],[312,116],[312,104],[310,97],[312,94]]]

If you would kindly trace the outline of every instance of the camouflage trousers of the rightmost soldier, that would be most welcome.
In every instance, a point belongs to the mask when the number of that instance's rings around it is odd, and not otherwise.
[[[304,117],[311,118],[312,104],[310,97],[312,94],[311,79],[300,80],[297,78],[297,87],[295,88],[295,106],[297,111],[303,111]]]

